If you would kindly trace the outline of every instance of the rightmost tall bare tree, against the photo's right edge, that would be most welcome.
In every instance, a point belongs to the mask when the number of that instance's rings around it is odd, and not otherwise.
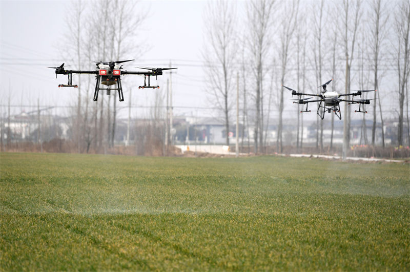
[[[401,2],[395,19],[395,29],[397,34],[397,71],[399,76],[399,125],[397,141],[399,145],[403,145],[404,98],[410,73],[410,2]]]

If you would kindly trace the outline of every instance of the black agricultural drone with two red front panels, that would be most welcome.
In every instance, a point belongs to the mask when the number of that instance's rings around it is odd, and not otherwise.
[[[124,101],[124,94],[122,94],[122,85],[121,85],[121,76],[122,75],[144,75],[144,85],[139,86],[138,89],[145,89],[145,88],[159,88],[159,86],[151,86],[150,77],[162,75],[162,71],[164,70],[172,70],[177,68],[149,68],[149,67],[136,67],[138,69],[145,69],[148,71],[122,71],[122,63],[127,61],[132,61],[134,59],[129,60],[117,60],[117,61],[94,61],[96,64],[96,70],[93,71],[82,71],[82,70],[66,70],[64,68],[64,63],[58,67],[48,67],[55,69],[55,78],[57,75],[68,75],[68,83],[67,84],[59,84],[58,87],[73,87],[78,88],[78,85],[72,83],[72,76],[73,74],[94,74],[96,79],[95,84],[95,91],[94,91],[94,101],[98,100],[98,92],[100,90],[106,90],[107,95],[111,93],[111,90],[118,91],[119,101]],[[147,85],[147,77],[148,77],[148,85]],[[100,84],[107,86],[107,88],[100,88]],[[113,86],[116,88],[108,88],[109,86]],[[116,85],[116,86],[115,86]]]

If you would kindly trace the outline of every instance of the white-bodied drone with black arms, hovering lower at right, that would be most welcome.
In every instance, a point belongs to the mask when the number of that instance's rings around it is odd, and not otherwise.
[[[362,93],[366,92],[376,92],[377,90],[353,90],[355,91],[354,93],[349,93],[349,94],[338,94],[337,92],[327,92],[326,87],[327,85],[332,81],[333,79],[327,81],[323,85],[319,86],[318,88],[322,87],[323,90],[320,94],[308,94],[308,93],[299,93],[296,90],[293,90],[289,87],[283,86],[284,88],[288,89],[289,91],[292,91],[292,96],[298,95],[299,99],[293,99],[296,100],[293,103],[296,104],[306,104],[306,109],[303,111],[300,111],[301,113],[303,112],[311,112],[308,110],[308,104],[311,102],[319,102],[319,107],[317,108],[317,114],[320,116],[320,118],[323,120],[324,114],[326,112],[331,113],[332,111],[335,113],[335,115],[341,120],[342,115],[340,112],[340,102],[348,102],[348,104],[359,104],[359,110],[355,112],[361,112],[361,113],[367,113],[367,111],[362,111],[361,110],[361,105],[362,104],[370,104],[370,100],[374,99],[354,99],[355,96],[360,96]],[[313,97],[308,97],[308,98],[302,98],[302,95],[309,95],[309,96],[317,96],[319,99],[314,99],[314,100],[309,100],[312,99]],[[343,99],[341,98],[342,96],[352,96],[352,99]],[[322,109],[322,110],[321,110]]]

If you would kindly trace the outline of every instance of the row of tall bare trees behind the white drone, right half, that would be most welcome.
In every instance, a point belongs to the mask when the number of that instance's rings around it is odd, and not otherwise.
[[[395,103],[399,135],[397,144],[410,142],[410,2],[258,0],[247,2],[244,9],[238,16],[235,2],[209,3],[205,12],[207,31],[203,56],[206,63],[213,64],[212,69],[207,71],[207,87],[212,90],[210,99],[216,101],[227,128],[236,101],[234,79],[237,73],[240,74],[242,129],[249,128],[249,123],[254,128],[255,153],[263,153],[267,146],[267,128],[272,124],[271,111],[279,112],[278,120],[275,120],[276,150],[282,152],[283,109],[287,91],[281,86],[311,92],[329,80],[330,76],[334,79],[333,90],[339,90],[339,94],[351,92],[353,86],[355,89],[378,90],[373,97],[367,97],[375,99],[370,106],[373,109],[371,139],[367,139],[366,116],[363,115],[362,119],[361,137],[366,144],[374,146],[376,143],[378,118],[383,147],[385,144],[383,101],[380,98],[391,98]],[[379,90],[381,80],[389,81],[391,88]],[[319,92],[320,89],[317,89]],[[249,111],[250,108],[254,111]],[[342,110],[347,132],[350,132],[350,104],[346,103]],[[298,148],[303,146],[303,115],[299,112],[298,104],[295,110]],[[316,148],[320,151],[323,151],[324,121],[317,117]],[[331,123],[330,148],[334,135],[333,114]],[[407,131],[403,131],[405,127]],[[346,137],[348,145],[350,133],[346,133]],[[228,136],[226,143],[229,144]]]

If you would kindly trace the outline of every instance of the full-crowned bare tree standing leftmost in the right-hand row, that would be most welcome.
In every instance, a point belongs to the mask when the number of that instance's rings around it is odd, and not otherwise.
[[[230,93],[233,91],[233,64],[236,59],[237,43],[235,33],[235,12],[232,3],[218,1],[208,5],[206,10],[206,40],[209,46],[203,52],[210,79],[209,90],[213,101],[223,112],[226,130],[226,144],[229,145]]]

